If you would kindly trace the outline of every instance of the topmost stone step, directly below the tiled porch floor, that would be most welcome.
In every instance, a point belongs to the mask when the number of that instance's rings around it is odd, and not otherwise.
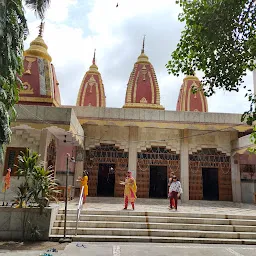
[[[168,207],[166,207],[168,208]],[[64,210],[59,210],[59,214],[64,214]],[[77,210],[68,210],[67,214],[76,214]],[[159,217],[189,217],[189,218],[217,218],[217,219],[243,219],[243,220],[256,220],[255,215],[239,215],[239,214],[212,214],[212,213],[189,213],[189,212],[154,212],[154,211],[102,211],[102,210],[82,210],[82,215],[121,215],[121,216],[159,216]]]

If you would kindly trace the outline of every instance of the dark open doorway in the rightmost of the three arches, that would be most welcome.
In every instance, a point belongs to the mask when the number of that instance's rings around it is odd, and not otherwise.
[[[219,200],[218,169],[203,168],[203,199]]]

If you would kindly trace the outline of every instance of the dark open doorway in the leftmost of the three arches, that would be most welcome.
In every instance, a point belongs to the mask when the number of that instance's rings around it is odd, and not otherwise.
[[[115,164],[99,164],[98,196],[114,196]]]

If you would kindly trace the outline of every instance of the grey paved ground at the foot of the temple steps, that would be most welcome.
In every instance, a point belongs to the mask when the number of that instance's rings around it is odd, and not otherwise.
[[[6,256],[39,256],[45,251],[1,251]],[[140,243],[71,243],[57,253],[62,256],[253,256],[256,246],[230,245],[179,245],[179,244],[140,244]]]

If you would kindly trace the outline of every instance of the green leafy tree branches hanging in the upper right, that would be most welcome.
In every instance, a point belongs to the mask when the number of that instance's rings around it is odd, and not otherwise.
[[[204,73],[202,90],[239,91],[248,70],[256,69],[255,0],[177,0],[185,23],[180,41],[166,65],[169,74]],[[250,109],[242,120],[256,120],[255,98],[246,93]]]

